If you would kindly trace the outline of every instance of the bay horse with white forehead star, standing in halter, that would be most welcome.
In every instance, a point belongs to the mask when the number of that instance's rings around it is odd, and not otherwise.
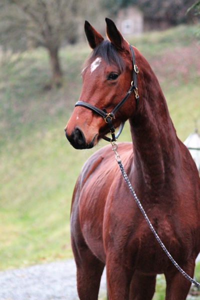
[[[128,42],[106,20],[104,38],[85,21],[93,49],[82,70],[79,100],[111,111],[131,82]],[[138,66],[138,108],[131,93],[112,119],[129,120],[131,142],[118,153],[135,192],[157,234],[180,267],[193,277],[200,251],[200,179],[193,159],[176,136],[167,104],[150,65],[132,47]],[[65,134],[76,149],[91,148],[109,132],[95,111],[76,106]],[[111,146],[84,164],[71,204],[71,245],[77,266],[80,300],[96,300],[106,265],[109,300],[150,300],[156,275],[164,273],[166,300],[184,300],[190,282],[166,256],[125,184]]]

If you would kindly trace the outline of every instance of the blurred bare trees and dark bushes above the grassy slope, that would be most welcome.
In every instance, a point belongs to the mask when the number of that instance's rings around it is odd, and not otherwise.
[[[195,20],[189,9],[192,4],[192,0],[1,0],[0,45],[15,52],[45,47],[52,69],[51,84],[59,87],[59,50],[64,44],[84,40],[84,19],[95,26],[101,15],[114,17],[119,9],[135,5],[141,9],[144,22],[162,21],[171,26]]]

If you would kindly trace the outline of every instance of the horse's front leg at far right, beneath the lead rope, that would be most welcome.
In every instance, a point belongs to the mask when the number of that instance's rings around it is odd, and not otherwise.
[[[195,267],[195,259],[188,261],[182,269],[193,278]],[[187,280],[178,270],[165,273],[166,278],[166,296],[165,300],[185,300],[191,286],[191,282]]]

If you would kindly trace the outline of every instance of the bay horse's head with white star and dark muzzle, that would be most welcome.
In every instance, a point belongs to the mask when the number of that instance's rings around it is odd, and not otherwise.
[[[115,24],[105,19],[106,34],[103,37],[85,21],[85,33],[91,55],[82,70],[82,91],[79,101],[110,112],[126,95],[132,80],[132,60],[128,42],[122,37]],[[116,112],[112,123],[118,127],[136,109],[134,93]],[[109,127],[103,117],[82,106],[76,106],[65,127],[66,137],[76,149],[91,148],[106,133]]]

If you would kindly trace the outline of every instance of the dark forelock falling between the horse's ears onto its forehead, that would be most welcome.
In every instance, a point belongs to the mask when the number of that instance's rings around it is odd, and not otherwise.
[[[96,46],[85,60],[83,66],[88,66],[96,57],[102,57],[107,64],[116,64],[120,71],[125,68],[123,59],[119,56],[115,46],[109,40],[103,40],[98,46]]]

